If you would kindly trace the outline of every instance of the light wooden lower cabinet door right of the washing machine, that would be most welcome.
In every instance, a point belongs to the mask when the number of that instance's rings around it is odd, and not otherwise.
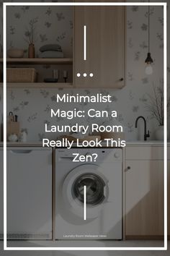
[[[164,162],[130,160],[126,166],[126,236],[164,235]]]

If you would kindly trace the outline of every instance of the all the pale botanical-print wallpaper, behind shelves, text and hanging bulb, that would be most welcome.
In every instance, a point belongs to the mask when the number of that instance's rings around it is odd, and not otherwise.
[[[13,111],[14,114],[19,116],[20,126],[27,131],[28,140],[41,140],[45,133],[45,123],[52,125],[55,121],[58,124],[65,122],[64,119],[50,119],[50,108],[71,109],[71,105],[67,103],[64,106],[56,106],[56,93],[61,95],[63,93],[83,93],[84,95],[92,95],[94,93],[110,94],[112,95],[112,104],[98,104],[95,105],[95,108],[108,111],[117,110],[117,122],[121,123],[125,128],[127,140],[135,140],[137,137],[143,139],[141,137],[141,134],[143,134],[143,123],[140,123],[141,129],[138,129],[137,132],[137,129],[135,129],[135,119],[140,115],[145,116],[147,129],[150,129],[151,139],[154,139],[154,130],[158,127],[158,124],[146,110],[146,103],[149,101],[148,94],[153,94],[153,86],[157,87],[163,82],[164,20],[162,7],[151,7],[150,11],[150,49],[153,58],[153,74],[145,74],[145,59],[148,53],[148,7],[128,7],[127,82],[125,88],[121,90],[107,90],[105,88],[102,90],[57,90],[48,88],[8,90],[8,111]],[[10,19],[7,22],[8,47],[19,46],[27,50],[27,43],[22,38],[24,38],[24,33],[27,30],[28,21],[36,19],[38,31],[36,48],[40,48],[45,43],[55,42],[61,45],[65,56],[72,55],[73,17],[71,9],[41,7],[35,11],[31,7],[13,7],[10,12]],[[25,54],[27,54],[26,51]],[[168,66],[169,76],[170,65],[168,64]],[[2,90],[0,90],[0,103],[2,106]],[[90,104],[91,106],[93,107],[93,104]],[[75,107],[86,110],[89,108],[89,104],[73,104],[72,108]],[[100,124],[112,123],[112,119],[86,119],[88,123],[92,121],[97,121]],[[68,123],[74,124],[76,119],[68,121]],[[51,138],[54,139],[57,137],[57,135],[53,134],[48,136],[53,136]],[[45,137],[48,136],[45,135]]]

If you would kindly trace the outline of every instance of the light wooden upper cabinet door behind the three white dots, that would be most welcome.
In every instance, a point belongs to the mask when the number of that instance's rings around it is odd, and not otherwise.
[[[75,7],[74,84],[78,88],[125,86],[125,7]],[[84,60],[86,25],[86,60]],[[81,76],[77,77],[77,73]],[[84,77],[83,74],[87,76]],[[93,73],[93,77],[89,74]]]

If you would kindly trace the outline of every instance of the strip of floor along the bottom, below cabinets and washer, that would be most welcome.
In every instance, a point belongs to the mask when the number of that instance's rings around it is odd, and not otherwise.
[[[50,247],[162,247],[161,241],[121,241],[121,242],[44,242],[43,246]],[[79,245],[77,245],[79,243]],[[10,247],[41,247],[42,242],[10,242]],[[3,242],[0,242],[1,256],[168,256],[170,255],[170,241],[168,251],[3,251]]]

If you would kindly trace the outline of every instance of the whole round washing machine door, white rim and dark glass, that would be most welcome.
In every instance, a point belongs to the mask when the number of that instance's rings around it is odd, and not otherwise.
[[[65,206],[74,215],[84,218],[84,186],[86,186],[86,218],[99,216],[109,196],[108,180],[102,169],[93,164],[73,168],[63,182]]]

